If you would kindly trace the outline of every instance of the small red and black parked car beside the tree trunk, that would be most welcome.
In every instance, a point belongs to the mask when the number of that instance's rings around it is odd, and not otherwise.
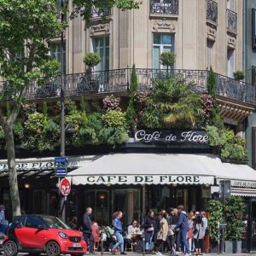
[[[17,253],[58,256],[63,254],[82,255],[87,246],[82,232],[72,230],[61,219],[47,215],[24,215],[15,217],[3,241],[6,256]]]

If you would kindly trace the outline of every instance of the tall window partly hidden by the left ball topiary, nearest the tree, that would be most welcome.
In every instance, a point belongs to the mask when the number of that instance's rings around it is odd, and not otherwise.
[[[109,70],[109,37],[92,39],[93,51],[101,56],[102,61],[96,66],[96,71]]]

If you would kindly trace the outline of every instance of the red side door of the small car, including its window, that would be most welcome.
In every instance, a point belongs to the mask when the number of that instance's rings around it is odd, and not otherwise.
[[[45,225],[39,216],[27,216],[24,226],[17,227],[16,236],[23,248],[43,250],[46,241]]]

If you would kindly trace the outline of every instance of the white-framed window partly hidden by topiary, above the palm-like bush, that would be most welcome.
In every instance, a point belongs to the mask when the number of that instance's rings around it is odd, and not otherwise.
[[[174,34],[153,34],[153,68],[166,68],[160,65],[160,55],[164,52],[174,52]]]

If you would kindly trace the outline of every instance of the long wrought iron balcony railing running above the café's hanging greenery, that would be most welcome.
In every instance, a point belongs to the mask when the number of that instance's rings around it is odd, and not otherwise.
[[[154,79],[166,78],[166,75],[178,74],[185,83],[191,84],[198,93],[208,91],[208,71],[188,69],[148,69],[137,68],[138,89],[153,90]],[[114,69],[93,73],[66,74],[63,77],[66,96],[100,95],[102,93],[126,92],[131,84],[131,68]],[[223,96],[238,102],[255,105],[255,86],[216,74],[217,96]],[[0,83],[2,101],[10,100],[7,82]],[[61,96],[61,77],[45,82],[43,86],[36,82],[29,85],[27,99],[59,98]]]

